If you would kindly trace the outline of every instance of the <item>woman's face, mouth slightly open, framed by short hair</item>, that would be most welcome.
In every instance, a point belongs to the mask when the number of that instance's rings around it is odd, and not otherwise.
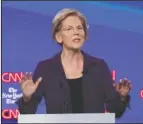
[[[62,27],[57,35],[58,43],[64,48],[78,50],[85,41],[85,31],[81,20],[77,16],[68,16],[62,22]]]

